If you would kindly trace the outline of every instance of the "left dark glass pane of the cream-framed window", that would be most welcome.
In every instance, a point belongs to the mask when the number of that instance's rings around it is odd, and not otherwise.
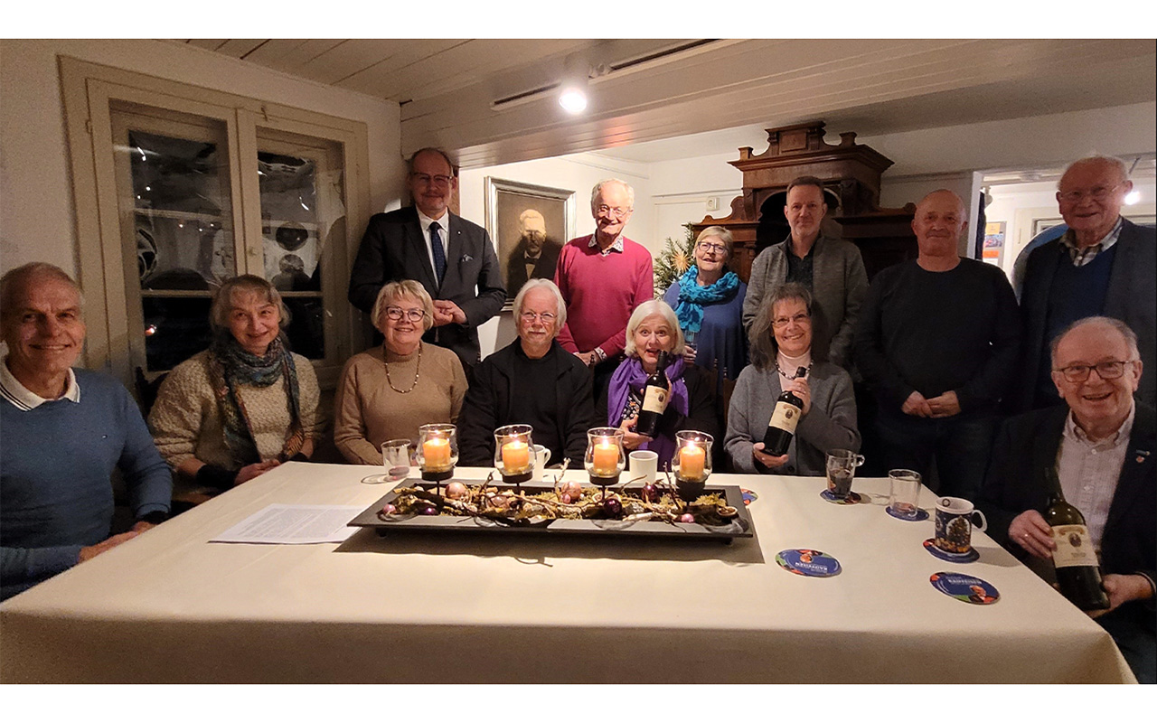
[[[112,125],[128,345],[163,371],[209,346],[213,292],[237,273],[227,128],[127,105]]]

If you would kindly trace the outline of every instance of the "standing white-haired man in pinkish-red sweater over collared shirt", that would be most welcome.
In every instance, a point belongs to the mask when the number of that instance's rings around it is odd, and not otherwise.
[[[622,235],[634,202],[626,182],[599,182],[590,194],[595,234],[570,239],[554,268],[567,302],[559,344],[595,369],[596,398],[622,361],[631,312],[655,297],[650,252]]]

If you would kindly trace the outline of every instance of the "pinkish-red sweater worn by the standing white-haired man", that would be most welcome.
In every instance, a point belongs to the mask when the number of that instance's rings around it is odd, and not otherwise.
[[[570,353],[590,352],[596,346],[607,356],[622,351],[631,312],[655,298],[655,274],[650,251],[622,237],[622,253],[606,256],[589,248],[590,236],[570,239],[562,246],[554,283],[567,302],[567,323],[559,344]]]

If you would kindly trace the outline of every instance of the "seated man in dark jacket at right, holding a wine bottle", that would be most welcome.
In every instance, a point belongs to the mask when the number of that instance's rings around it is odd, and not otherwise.
[[[1057,337],[1051,361],[1066,405],[1004,422],[979,507],[988,533],[1012,554],[1052,561],[1056,543],[1041,512],[1045,471],[1055,466],[1100,553],[1111,607],[1091,614],[1137,680],[1155,683],[1157,422],[1154,408],[1134,399],[1144,368],[1137,338],[1118,319],[1081,319]],[[1051,573],[1046,565],[1044,576]]]

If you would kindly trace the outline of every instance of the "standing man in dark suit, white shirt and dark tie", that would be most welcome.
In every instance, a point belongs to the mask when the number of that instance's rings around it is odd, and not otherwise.
[[[445,153],[414,153],[406,182],[414,205],[369,220],[349,303],[369,313],[383,286],[414,279],[434,300],[434,326],[422,339],[451,349],[469,370],[481,359],[478,326],[506,302],[498,254],[485,229],[450,213],[458,179]]]

